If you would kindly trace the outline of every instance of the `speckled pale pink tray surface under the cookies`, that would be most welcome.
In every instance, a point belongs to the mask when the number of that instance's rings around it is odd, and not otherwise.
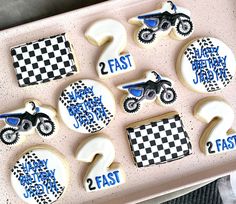
[[[123,164],[127,174],[127,183],[103,192],[86,193],[82,186],[82,178],[87,164],[76,161],[74,154],[78,144],[89,135],[73,132],[60,121],[60,131],[51,140],[43,140],[35,134],[28,136],[27,141],[20,146],[9,147],[0,143],[0,203],[22,203],[10,185],[10,169],[14,165],[15,158],[21,152],[37,144],[49,144],[56,147],[69,161],[70,183],[65,194],[57,203],[134,202],[236,170],[235,151],[208,157],[200,152],[198,141],[206,124],[195,119],[192,110],[199,99],[212,94],[198,94],[188,90],[179,82],[175,72],[175,61],[179,50],[193,38],[200,36],[216,37],[223,40],[235,52],[236,1],[176,0],[175,2],[177,5],[191,10],[195,24],[194,34],[187,41],[164,39],[154,48],[148,50],[138,48],[134,43],[132,35],[135,26],[129,25],[127,20],[137,14],[154,10],[159,3],[156,0],[115,0],[0,32],[1,113],[20,107],[23,100],[27,98],[36,98],[57,107],[60,92],[69,83],[83,78],[98,80],[95,64],[102,48],[89,44],[83,36],[90,23],[97,19],[110,17],[123,23],[128,32],[127,50],[133,54],[137,66],[133,72],[103,81],[115,96],[117,115],[101,134],[106,134],[112,139],[116,149],[116,161]],[[72,77],[54,82],[19,88],[12,66],[10,47],[63,32],[69,34],[74,45],[80,64],[80,72]],[[156,69],[161,74],[173,79],[178,94],[177,102],[172,107],[161,107],[155,103],[148,104],[132,116],[123,113],[120,107],[120,99],[123,93],[116,86],[142,77],[143,72],[148,69]],[[235,89],[236,82],[234,79],[227,88],[213,95],[225,98],[236,110]],[[172,163],[137,168],[130,153],[125,127],[130,123],[173,110],[182,116],[192,142],[193,154]],[[236,120],[233,127],[236,128]]]

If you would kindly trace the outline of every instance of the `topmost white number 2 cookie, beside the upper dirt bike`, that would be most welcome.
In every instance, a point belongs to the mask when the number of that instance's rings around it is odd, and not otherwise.
[[[106,44],[96,65],[100,78],[108,78],[135,69],[133,56],[125,51],[127,33],[119,21],[113,19],[96,21],[87,29],[85,37],[94,45]]]

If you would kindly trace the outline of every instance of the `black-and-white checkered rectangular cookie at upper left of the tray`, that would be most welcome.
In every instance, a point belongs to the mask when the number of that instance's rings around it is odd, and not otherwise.
[[[20,87],[73,75],[76,65],[65,34],[51,36],[11,49]]]

